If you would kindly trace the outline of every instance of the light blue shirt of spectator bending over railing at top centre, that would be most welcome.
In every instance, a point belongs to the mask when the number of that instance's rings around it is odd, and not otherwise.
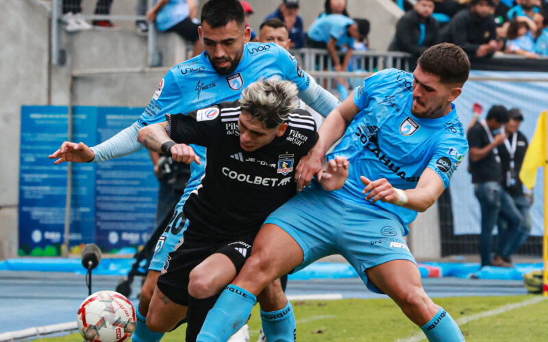
[[[352,47],[354,40],[348,36],[347,29],[353,23],[351,18],[343,16],[343,14],[328,14],[317,18],[310,25],[307,35],[310,39],[325,42],[325,44],[329,42],[330,38],[334,38],[337,41],[337,47],[344,44]]]

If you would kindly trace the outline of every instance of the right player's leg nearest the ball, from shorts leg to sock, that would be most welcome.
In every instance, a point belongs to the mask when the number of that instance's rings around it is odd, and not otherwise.
[[[338,224],[333,218],[344,210],[344,203],[319,192],[319,188],[308,188],[269,215],[253,241],[251,257],[208,313],[197,341],[225,341],[245,323],[256,295],[266,285],[336,252],[330,231]],[[322,215],[316,215],[320,208]],[[282,310],[285,304],[269,309]]]

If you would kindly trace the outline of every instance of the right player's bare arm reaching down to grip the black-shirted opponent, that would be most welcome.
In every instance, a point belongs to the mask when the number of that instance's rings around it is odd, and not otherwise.
[[[358,114],[358,106],[354,103],[353,93],[351,96],[340,103],[327,116],[319,130],[318,142],[308,152],[308,155],[301,158],[295,172],[295,179],[298,183],[299,191],[304,186],[308,186],[314,175],[321,181],[322,160],[327,150],[345,133],[352,119]]]

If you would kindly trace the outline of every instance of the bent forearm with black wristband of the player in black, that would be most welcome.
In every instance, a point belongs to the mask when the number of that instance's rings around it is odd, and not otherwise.
[[[159,124],[150,124],[143,127],[138,133],[138,141],[149,150],[158,153],[164,153],[175,161],[190,164],[192,161],[200,163],[200,157],[197,156],[192,147],[186,144],[177,144],[166,131],[167,122]]]

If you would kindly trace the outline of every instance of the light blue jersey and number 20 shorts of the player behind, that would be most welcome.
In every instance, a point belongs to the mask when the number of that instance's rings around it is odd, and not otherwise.
[[[277,77],[292,81],[303,92],[310,85],[310,77],[297,64],[295,57],[275,43],[247,43],[241,62],[234,73],[219,75],[212,67],[208,55],[201,55],[178,64],[169,70],[156,88],[152,99],[140,116],[138,124],[143,127],[165,121],[165,114],[189,113],[215,103],[235,101],[250,83],[261,78]],[[227,124],[235,125],[235,122]],[[206,149],[192,145],[201,158],[201,165],[190,164],[190,179],[184,195],[175,207],[171,234],[164,233],[155,249],[150,269],[160,270],[168,252],[182,235],[182,212],[184,202],[201,182],[206,166]],[[164,255],[165,254],[165,255]]]

